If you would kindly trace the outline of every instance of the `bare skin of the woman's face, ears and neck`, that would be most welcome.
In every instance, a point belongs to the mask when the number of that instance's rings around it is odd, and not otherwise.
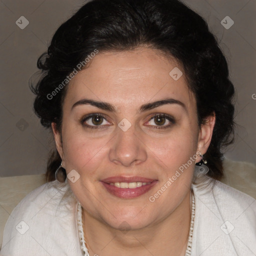
[[[190,185],[195,162],[157,198],[149,201],[196,151],[209,146],[215,116],[198,127],[195,97],[185,75],[175,81],[169,72],[182,67],[157,50],[140,47],[131,51],[99,52],[70,81],[63,102],[61,134],[52,123],[57,150],[67,174],[80,177],[68,183],[83,208],[85,240],[90,255],[184,255],[190,225]],[[166,97],[179,104],[164,104],[139,112],[142,104]],[[81,99],[110,103],[116,112],[90,104],[72,105]],[[90,129],[80,122],[90,113],[101,113],[101,127]],[[156,113],[171,115],[158,129]],[[131,127],[118,123],[126,118]],[[95,125],[93,118],[84,121]],[[162,120],[162,119],[161,119]],[[97,124],[97,123],[96,123]],[[143,176],[157,179],[154,187],[132,199],[107,192],[100,180],[110,176]],[[125,221],[128,231],[122,232]],[[123,225],[123,224],[122,224]],[[121,225],[121,226],[122,226]]]

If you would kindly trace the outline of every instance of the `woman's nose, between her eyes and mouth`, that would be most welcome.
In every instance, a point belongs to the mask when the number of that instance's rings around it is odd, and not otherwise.
[[[146,145],[142,138],[135,133],[132,125],[128,130],[123,131],[116,128],[116,135],[113,137],[109,150],[110,161],[124,166],[131,166],[143,162],[147,158]]]

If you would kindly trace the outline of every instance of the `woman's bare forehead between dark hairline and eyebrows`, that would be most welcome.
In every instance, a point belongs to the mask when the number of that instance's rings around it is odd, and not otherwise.
[[[182,67],[174,58],[163,56],[158,50],[99,51],[69,82],[65,101],[71,104],[91,98],[118,108],[173,97],[189,107],[194,98],[181,72]]]

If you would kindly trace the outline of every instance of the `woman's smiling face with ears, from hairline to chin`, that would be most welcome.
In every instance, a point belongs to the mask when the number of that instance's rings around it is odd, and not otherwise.
[[[189,195],[214,120],[199,129],[180,71],[140,48],[99,52],[70,81],[55,141],[73,193],[102,223],[153,225]]]

